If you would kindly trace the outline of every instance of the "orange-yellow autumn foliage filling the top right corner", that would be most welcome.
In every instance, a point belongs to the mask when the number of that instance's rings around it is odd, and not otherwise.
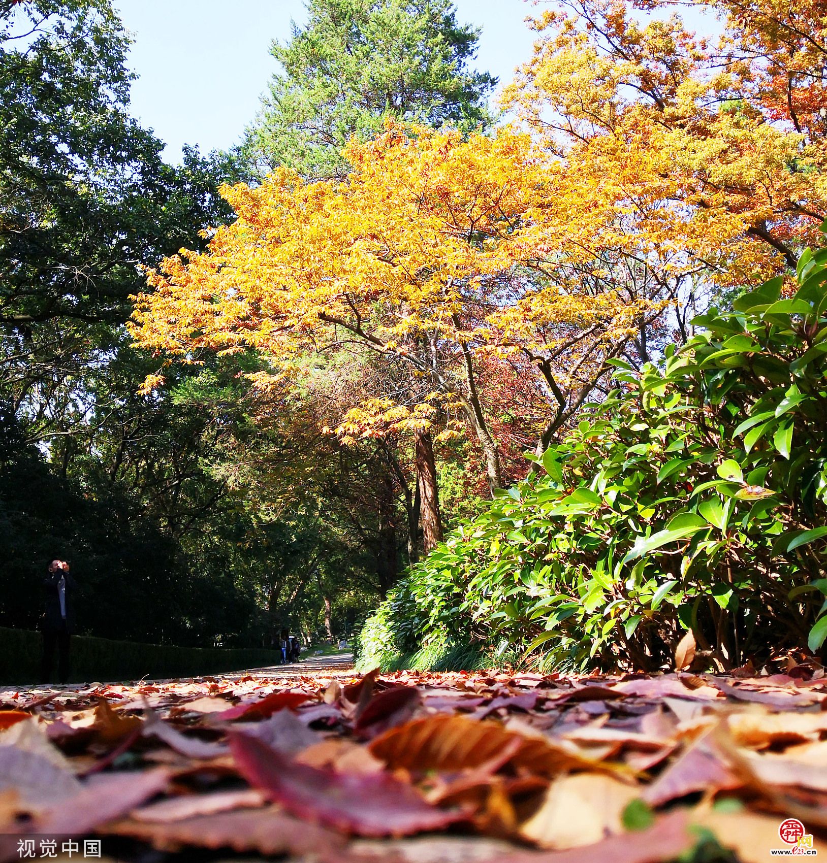
[[[678,16],[636,22],[622,0],[558,3],[504,101],[568,170],[612,178],[642,252],[675,249],[677,271],[695,261],[730,286],[794,267],[827,215],[827,13],[823,0],[715,8],[712,44]]]

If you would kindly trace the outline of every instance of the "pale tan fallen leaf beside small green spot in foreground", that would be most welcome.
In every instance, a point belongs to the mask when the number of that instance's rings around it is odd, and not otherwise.
[[[623,809],[640,795],[639,787],[600,773],[561,776],[520,834],[544,848],[591,845],[623,832]]]

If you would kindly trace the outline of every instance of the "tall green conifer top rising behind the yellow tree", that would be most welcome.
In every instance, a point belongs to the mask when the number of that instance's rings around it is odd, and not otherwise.
[[[388,117],[464,130],[490,122],[496,79],[470,68],[480,31],[457,22],[451,0],[309,0],[307,12],[305,28],[273,43],[283,71],[245,144],[258,171],[343,176],[340,148]]]

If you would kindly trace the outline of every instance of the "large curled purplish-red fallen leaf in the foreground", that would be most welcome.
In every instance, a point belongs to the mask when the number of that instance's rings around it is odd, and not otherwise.
[[[464,821],[387,773],[336,773],[300,764],[245,734],[230,734],[238,771],[294,816],[361,836],[404,836]]]

